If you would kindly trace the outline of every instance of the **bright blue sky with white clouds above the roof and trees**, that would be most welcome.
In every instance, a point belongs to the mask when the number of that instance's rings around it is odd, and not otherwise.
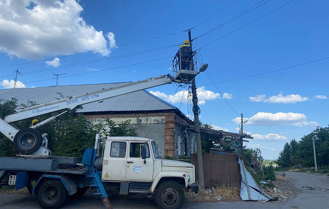
[[[245,145],[276,159],[328,126],[328,10],[327,0],[0,0],[0,88],[16,69],[16,88],[54,86],[54,74],[58,85],[171,74],[192,28],[198,66],[209,65],[196,77],[200,120],[238,132],[243,113]],[[187,87],[149,91],[192,114]]]

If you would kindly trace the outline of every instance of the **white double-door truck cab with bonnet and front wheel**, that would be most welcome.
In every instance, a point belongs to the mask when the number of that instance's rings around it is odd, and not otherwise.
[[[154,140],[141,137],[109,137],[103,152],[102,182],[119,187],[120,194],[155,194],[160,208],[180,208],[184,192],[197,192],[195,167],[166,160]]]

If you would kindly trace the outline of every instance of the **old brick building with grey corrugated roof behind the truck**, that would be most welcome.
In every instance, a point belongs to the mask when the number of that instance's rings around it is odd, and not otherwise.
[[[51,86],[39,88],[2,89],[0,99],[17,99],[17,104],[29,106],[43,104],[71,96],[82,95],[126,83]],[[131,120],[137,128],[137,136],[154,139],[161,156],[179,156],[195,153],[195,134],[188,119],[177,107],[161,100],[148,91],[138,91],[99,102],[83,104],[76,110],[84,114],[92,124],[100,124],[104,118],[116,123]]]

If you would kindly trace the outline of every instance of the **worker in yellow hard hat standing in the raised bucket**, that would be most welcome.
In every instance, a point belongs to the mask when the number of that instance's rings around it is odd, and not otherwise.
[[[184,41],[183,45],[180,45],[176,57],[178,57],[179,70],[190,70],[192,62],[192,47],[188,40]]]

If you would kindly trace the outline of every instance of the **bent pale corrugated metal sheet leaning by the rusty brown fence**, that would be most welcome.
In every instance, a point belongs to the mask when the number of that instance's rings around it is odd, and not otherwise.
[[[240,197],[243,201],[261,201],[267,202],[272,199],[271,196],[266,194],[262,188],[258,186],[254,178],[244,167],[243,162],[239,159],[240,171],[241,171],[241,190]],[[248,184],[248,188],[247,185]]]

